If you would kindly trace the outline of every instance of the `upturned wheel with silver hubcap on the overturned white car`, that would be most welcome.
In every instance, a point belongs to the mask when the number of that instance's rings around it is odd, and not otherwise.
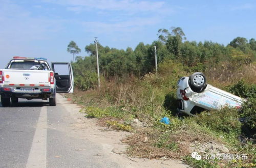
[[[193,73],[190,77],[190,87],[195,92],[202,92],[206,86],[206,77],[201,72]]]

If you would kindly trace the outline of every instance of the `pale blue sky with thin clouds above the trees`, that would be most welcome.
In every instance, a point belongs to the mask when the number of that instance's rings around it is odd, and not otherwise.
[[[103,46],[134,49],[173,26],[188,41],[256,39],[256,1],[0,0],[0,68],[15,55],[70,62],[71,40],[81,56],[94,37]]]

